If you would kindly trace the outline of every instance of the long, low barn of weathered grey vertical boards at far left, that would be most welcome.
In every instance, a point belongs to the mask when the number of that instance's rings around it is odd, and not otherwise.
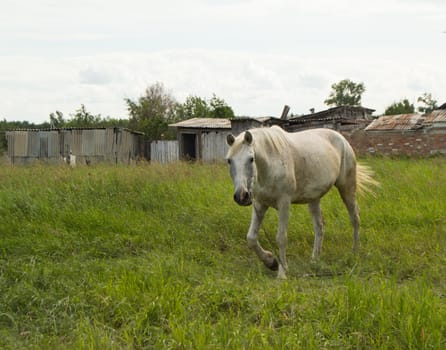
[[[6,132],[12,164],[129,164],[142,157],[143,133],[124,128],[27,129]]]

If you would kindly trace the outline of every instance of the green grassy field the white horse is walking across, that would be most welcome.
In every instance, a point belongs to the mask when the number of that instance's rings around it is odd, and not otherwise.
[[[446,159],[364,161],[382,186],[359,254],[332,191],[317,263],[293,207],[285,281],[248,250],[223,164],[2,166],[0,348],[446,348]]]

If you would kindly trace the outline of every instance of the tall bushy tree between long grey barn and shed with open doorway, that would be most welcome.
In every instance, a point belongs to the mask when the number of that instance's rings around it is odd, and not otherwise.
[[[163,84],[157,82],[149,86],[136,102],[131,99],[125,102],[130,128],[144,132],[149,141],[172,137],[168,135],[168,124],[176,120],[178,103]]]

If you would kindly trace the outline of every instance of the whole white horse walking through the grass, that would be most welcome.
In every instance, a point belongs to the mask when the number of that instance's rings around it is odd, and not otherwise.
[[[356,163],[353,149],[341,134],[330,129],[288,133],[273,126],[251,129],[237,137],[228,135],[227,143],[230,147],[226,160],[234,183],[234,200],[243,206],[253,204],[248,246],[268,268],[278,270],[279,278],[286,278],[290,205],[308,203],[315,231],[312,258],[317,259],[323,238],[320,199],[332,186],[337,187],[347,207],[353,226],[353,249],[358,249],[356,192],[367,191],[369,185],[378,183],[366,166]],[[269,207],[279,215],[279,260],[258,241],[259,228]]]

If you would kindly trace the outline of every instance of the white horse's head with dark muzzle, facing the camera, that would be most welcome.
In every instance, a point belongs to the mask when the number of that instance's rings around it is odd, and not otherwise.
[[[245,131],[237,138],[229,134],[226,141],[230,147],[226,160],[234,183],[234,200],[239,205],[250,205],[252,203],[251,187],[256,176],[252,134]]]

